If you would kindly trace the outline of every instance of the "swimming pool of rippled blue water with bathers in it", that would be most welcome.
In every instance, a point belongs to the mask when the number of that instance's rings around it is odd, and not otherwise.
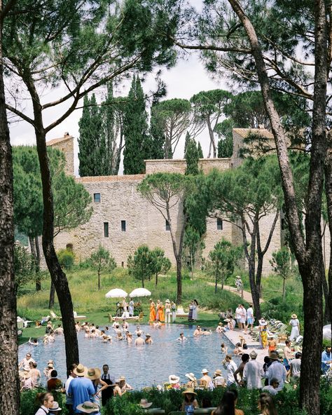
[[[130,325],[130,332],[134,333],[136,325]],[[84,333],[78,333],[78,346],[80,351],[80,362],[87,367],[99,367],[107,363],[110,373],[118,378],[125,376],[127,383],[133,388],[143,388],[162,384],[168,381],[170,374],[180,377],[181,383],[188,381],[188,372],[193,372],[199,379],[203,368],[209,370],[210,376],[216,369],[225,369],[221,364],[225,355],[221,353],[220,345],[225,343],[229,350],[233,345],[223,336],[212,332],[211,336],[193,337],[195,326],[187,325],[165,325],[161,329],[153,329],[148,325],[141,325],[141,329],[151,334],[153,344],[135,347],[133,343],[128,345],[126,341],[114,340],[113,329],[109,334],[113,337],[113,343],[102,343],[101,339],[85,339]],[[187,340],[177,341],[180,332],[184,332]],[[145,336],[144,336],[145,339]],[[38,369],[43,373],[48,359],[55,361],[58,377],[65,381],[66,365],[64,353],[64,337],[57,336],[54,343],[39,346],[22,344],[18,350],[19,362],[27,352],[32,353],[32,358],[38,363]],[[239,358],[234,358],[238,364]],[[46,379],[43,376],[43,383]]]

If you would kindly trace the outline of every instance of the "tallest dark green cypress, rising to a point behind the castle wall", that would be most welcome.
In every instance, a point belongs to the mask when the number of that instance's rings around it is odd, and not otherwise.
[[[123,173],[125,175],[137,175],[145,170],[144,159],[148,156],[147,118],[141,81],[139,76],[134,76],[124,117]]]

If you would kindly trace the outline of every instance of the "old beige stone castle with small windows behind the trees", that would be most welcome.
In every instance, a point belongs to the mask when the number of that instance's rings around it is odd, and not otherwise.
[[[244,143],[249,133],[261,135],[270,148],[275,147],[272,134],[264,128],[233,129],[233,156],[230,158],[202,158],[199,166],[207,173],[213,168],[226,170],[240,165],[240,149],[247,146]],[[66,172],[74,176],[74,137],[66,133],[64,137],[47,142],[49,146],[60,149],[66,158]],[[146,244],[153,249],[161,247],[165,255],[175,265],[170,231],[167,223],[153,205],[141,197],[137,185],[146,175],[155,172],[179,172],[186,170],[185,160],[147,160],[145,175],[76,177],[76,182],[83,184],[92,198],[93,213],[89,222],[69,231],[61,232],[55,238],[55,248],[59,250],[72,245],[76,261],[90,257],[97,250],[99,243],[111,254],[118,266],[127,266],[127,257],[133,254],[139,245]],[[268,215],[261,222],[261,243],[265,244],[270,231],[274,215]],[[181,206],[172,210],[172,225],[179,238],[179,229],[183,223]],[[176,224],[174,226],[174,224]],[[264,231],[266,229],[266,232]],[[282,218],[279,217],[265,254],[263,272],[271,270],[269,259],[272,252],[278,250],[283,243]],[[207,233],[205,235],[205,249],[202,257],[207,258],[214,245],[226,238],[235,245],[242,244],[242,235],[237,226],[224,222],[222,219],[207,218]],[[323,246],[325,257],[329,258],[329,234],[324,233]]]

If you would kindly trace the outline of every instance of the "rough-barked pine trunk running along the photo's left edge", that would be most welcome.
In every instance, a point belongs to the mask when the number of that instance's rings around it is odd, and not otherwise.
[[[0,0],[0,412],[18,415],[18,329],[13,273],[13,163],[7,124],[2,62],[2,11]]]

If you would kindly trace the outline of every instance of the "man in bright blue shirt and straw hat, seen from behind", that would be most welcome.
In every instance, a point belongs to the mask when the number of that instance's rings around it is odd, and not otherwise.
[[[68,395],[73,397],[73,409],[75,414],[81,414],[82,411],[77,409],[77,405],[90,401],[90,396],[95,395],[95,388],[92,381],[85,378],[88,374],[88,368],[81,363],[73,370],[76,378],[69,383]]]

